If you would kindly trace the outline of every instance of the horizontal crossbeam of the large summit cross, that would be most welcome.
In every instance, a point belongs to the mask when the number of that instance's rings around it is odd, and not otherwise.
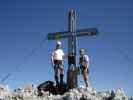
[[[98,34],[97,28],[85,28],[76,30],[76,36],[95,36]],[[64,32],[54,32],[54,33],[48,33],[47,38],[48,40],[56,40],[61,38],[68,38],[74,35],[72,32],[64,31]]]

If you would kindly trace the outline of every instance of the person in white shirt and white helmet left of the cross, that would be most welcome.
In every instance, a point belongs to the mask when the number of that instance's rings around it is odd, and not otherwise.
[[[62,43],[57,41],[56,48],[52,53],[51,62],[54,68],[56,85],[63,84],[64,66],[63,66],[64,52],[62,50]],[[59,83],[60,75],[60,83]]]

